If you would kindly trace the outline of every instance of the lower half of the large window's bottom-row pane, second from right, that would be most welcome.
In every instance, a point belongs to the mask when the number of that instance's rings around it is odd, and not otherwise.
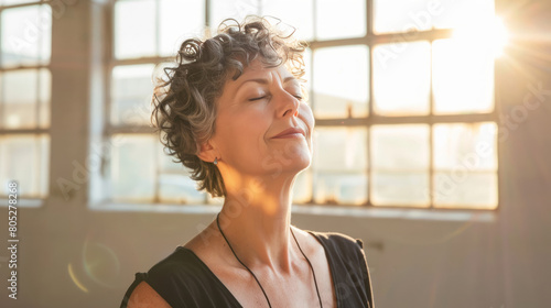
[[[374,206],[429,207],[429,170],[374,172]]]

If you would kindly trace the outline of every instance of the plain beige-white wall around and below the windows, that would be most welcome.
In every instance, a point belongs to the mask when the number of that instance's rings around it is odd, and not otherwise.
[[[499,8],[514,8],[510,14],[516,18],[510,23],[519,34],[533,35],[538,29],[551,38],[547,2],[500,1]],[[63,47],[53,51],[52,59],[51,196],[41,208],[19,211],[19,299],[8,299],[4,288],[1,307],[118,307],[136,272],[149,270],[191,239],[197,226],[214,218],[213,213],[93,211],[86,205],[88,179],[68,200],[61,194],[56,180],[76,182],[73,162],[85,162],[88,141],[100,134],[83,123],[90,117],[90,106],[101,102],[98,91],[102,89],[91,90],[90,85],[98,76],[94,74],[102,69],[97,65],[101,58],[91,55],[102,46],[88,38],[101,34],[97,19],[102,18],[100,3],[78,1],[54,19],[54,45]],[[504,114],[517,112],[511,119],[522,118],[528,85],[541,82],[551,91],[551,66],[541,59],[550,52],[549,42],[522,42],[522,48],[510,51],[514,61],[499,65],[497,98]],[[499,143],[501,204],[490,219],[295,213],[293,223],[363,239],[377,307],[548,307],[551,92],[544,92],[540,102],[533,110],[526,109],[526,119],[512,123],[518,127],[510,125],[509,136]],[[0,215],[7,218],[7,208],[0,208]],[[7,243],[4,221],[0,242]],[[6,251],[0,254],[7,255]],[[71,277],[69,264],[87,292]],[[0,263],[0,271],[6,282],[7,263]]]

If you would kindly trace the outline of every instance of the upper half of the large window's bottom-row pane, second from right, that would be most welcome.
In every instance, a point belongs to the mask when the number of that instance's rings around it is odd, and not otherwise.
[[[382,170],[428,170],[429,125],[371,127],[371,168]]]

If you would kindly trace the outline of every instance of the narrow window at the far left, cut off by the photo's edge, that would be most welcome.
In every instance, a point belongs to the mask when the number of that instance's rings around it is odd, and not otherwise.
[[[0,197],[44,198],[48,187],[52,12],[47,3],[0,1]]]

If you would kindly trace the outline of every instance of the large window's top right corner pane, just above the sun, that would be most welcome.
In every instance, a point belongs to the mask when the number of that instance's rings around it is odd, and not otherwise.
[[[436,14],[431,15],[435,28],[479,26],[494,16],[494,0],[439,0],[437,2],[440,8],[434,10]]]

